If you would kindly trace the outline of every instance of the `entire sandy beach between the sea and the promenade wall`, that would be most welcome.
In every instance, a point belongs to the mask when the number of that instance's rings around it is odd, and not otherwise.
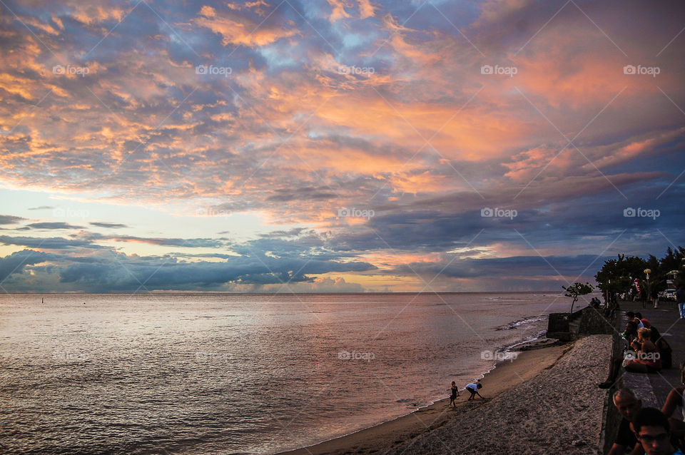
[[[610,349],[611,337],[597,335],[527,350],[485,375],[481,394],[487,401],[467,402],[465,392],[456,408],[442,399],[398,419],[283,454],[499,454],[503,449],[547,454],[557,444],[569,454],[596,453],[604,394],[592,386],[606,373]],[[574,412],[582,417],[579,422],[567,419]],[[559,442],[562,434],[565,439]]]

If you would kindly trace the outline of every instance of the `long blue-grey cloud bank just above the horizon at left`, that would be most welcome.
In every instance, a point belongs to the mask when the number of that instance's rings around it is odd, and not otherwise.
[[[0,242],[43,247],[46,249],[63,249],[88,245],[83,242],[64,239],[34,239],[26,237],[9,239],[1,236]],[[37,246],[40,245],[40,246]],[[14,253],[0,260],[0,265],[14,269],[27,257],[34,257],[39,264],[50,260],[50,265],[31,267],[31,273],[17,269],[13,281],[6,284],[7,289],[21,290],[27,281],[36,276],[44,277],[46,283],[61,283],[61,290],[87,290],[88,292],[133,292],[141,287],[147,290],[220,290],[235,285],[263,287],[267,285],[288,285],[290,283],[313,283],[310,289],[330,287],[339,290],[360,290],[353,283],[345,284],[344,280],[315,280],[310,275],[322,275],[330,272],[365,272],[375,267],[367,262],[331,260],[330,258],[308,258],[302,255],[285,255],[274,257],[258,250],[260,245],[250,245],[250,254],[243,255],[191,255],[193,257],[213,257],[223,259],[220,262],[188,262],[180,256],[147,256],[124,255],[107,248],[91,252],[88,256],[65,252],[63,255],[48,255],[24,250],[22,255]],[[4,270],[4,269],[0,269]],[[21,272],[24,270],[24,272]],[[9,273],[9,272],[8,272]],[[226,288],[225,290],[228,290]]]

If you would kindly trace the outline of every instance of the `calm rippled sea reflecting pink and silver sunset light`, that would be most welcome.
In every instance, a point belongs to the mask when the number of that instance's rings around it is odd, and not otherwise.
[[[464,387],[567,311],[557,297],[2,295],[0,453],[314,444]]]

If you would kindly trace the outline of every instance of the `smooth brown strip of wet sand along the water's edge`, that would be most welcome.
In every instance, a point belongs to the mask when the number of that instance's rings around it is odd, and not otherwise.
[[[517,344],[515,359],[497,362],[492,369],[482,374],[480,382],[483,389],[480,392],[487,400],[467,401],[468,392],[461,392],[465,384],[459,384],[460,397],[457,399],[457,407],[450,407],[449,398],[439,399],[390,421],[318,444],[280,451],[275,455],[350,454],[387,450],[422,434],[430,433],[445,425],[453,416],[458,415],[459,411],[477,409],[502,392],[536,377],[545,369],[552,368],[572,347],[573,343],[560,344],[551,339],[522,342]],[[447,395],[447,386],[445,390]]]

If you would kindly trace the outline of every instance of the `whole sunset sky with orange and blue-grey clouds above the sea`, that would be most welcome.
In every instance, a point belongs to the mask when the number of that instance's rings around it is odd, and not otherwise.
[[[685,245],[681,1],[0,1],[3,292],[561,290]]]

